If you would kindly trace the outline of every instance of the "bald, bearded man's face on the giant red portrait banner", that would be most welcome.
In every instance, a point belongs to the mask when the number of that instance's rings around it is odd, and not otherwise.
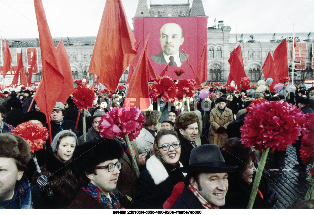
[[[178,24],[167,23],[160,29],[160,45],[166,55],[174,55],[183,44],[182,30]]]

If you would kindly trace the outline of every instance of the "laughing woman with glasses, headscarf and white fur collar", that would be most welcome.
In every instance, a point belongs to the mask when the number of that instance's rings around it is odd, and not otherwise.
[[[135,208],[163,208],[173,186],[183,180],[179,162],[181,146],[175,131],[161,130],[155,137],[146,170],[136,182]]]

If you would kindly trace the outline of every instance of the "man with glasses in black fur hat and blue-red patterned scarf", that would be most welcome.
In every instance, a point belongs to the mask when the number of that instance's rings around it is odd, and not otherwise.
[[[73,173],[82,186],[69,209],[131,208],[132,198],[116,189],[123,149],[116,139],[100,138],[78,145],[73,153]]]

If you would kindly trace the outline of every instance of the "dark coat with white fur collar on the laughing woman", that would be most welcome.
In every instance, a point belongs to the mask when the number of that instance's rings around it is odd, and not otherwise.
[[[162,209],[162,205],[171,196],[173,186],[183,180],[180,166],[178,163],[173,170],[171,164],[164,164],[155,155],[151,156],[146,161],[146,170],[136,182],[135,208]]]

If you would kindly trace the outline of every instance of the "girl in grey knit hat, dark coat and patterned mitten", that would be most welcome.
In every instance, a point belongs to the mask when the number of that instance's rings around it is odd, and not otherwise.
[[[64,209],[74,200],[79,191],[78,180],[68,165],[76,147],[78,139],[75,133],[64,130],[56,134],[51,147],[45,153],[45,164],[32,178],[32,184],[46,194],[46,208]],[[48,188],[48,189],[46,189]]]

